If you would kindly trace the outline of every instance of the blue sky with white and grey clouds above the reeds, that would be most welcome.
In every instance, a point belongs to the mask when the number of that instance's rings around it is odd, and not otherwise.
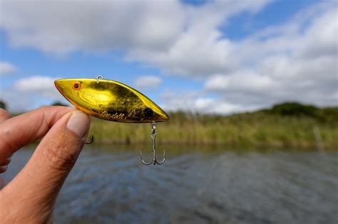
[[[0,0],[0,100],[66,103],[58,78],[103,75],[164,110],[338,105],[337,1]]]

